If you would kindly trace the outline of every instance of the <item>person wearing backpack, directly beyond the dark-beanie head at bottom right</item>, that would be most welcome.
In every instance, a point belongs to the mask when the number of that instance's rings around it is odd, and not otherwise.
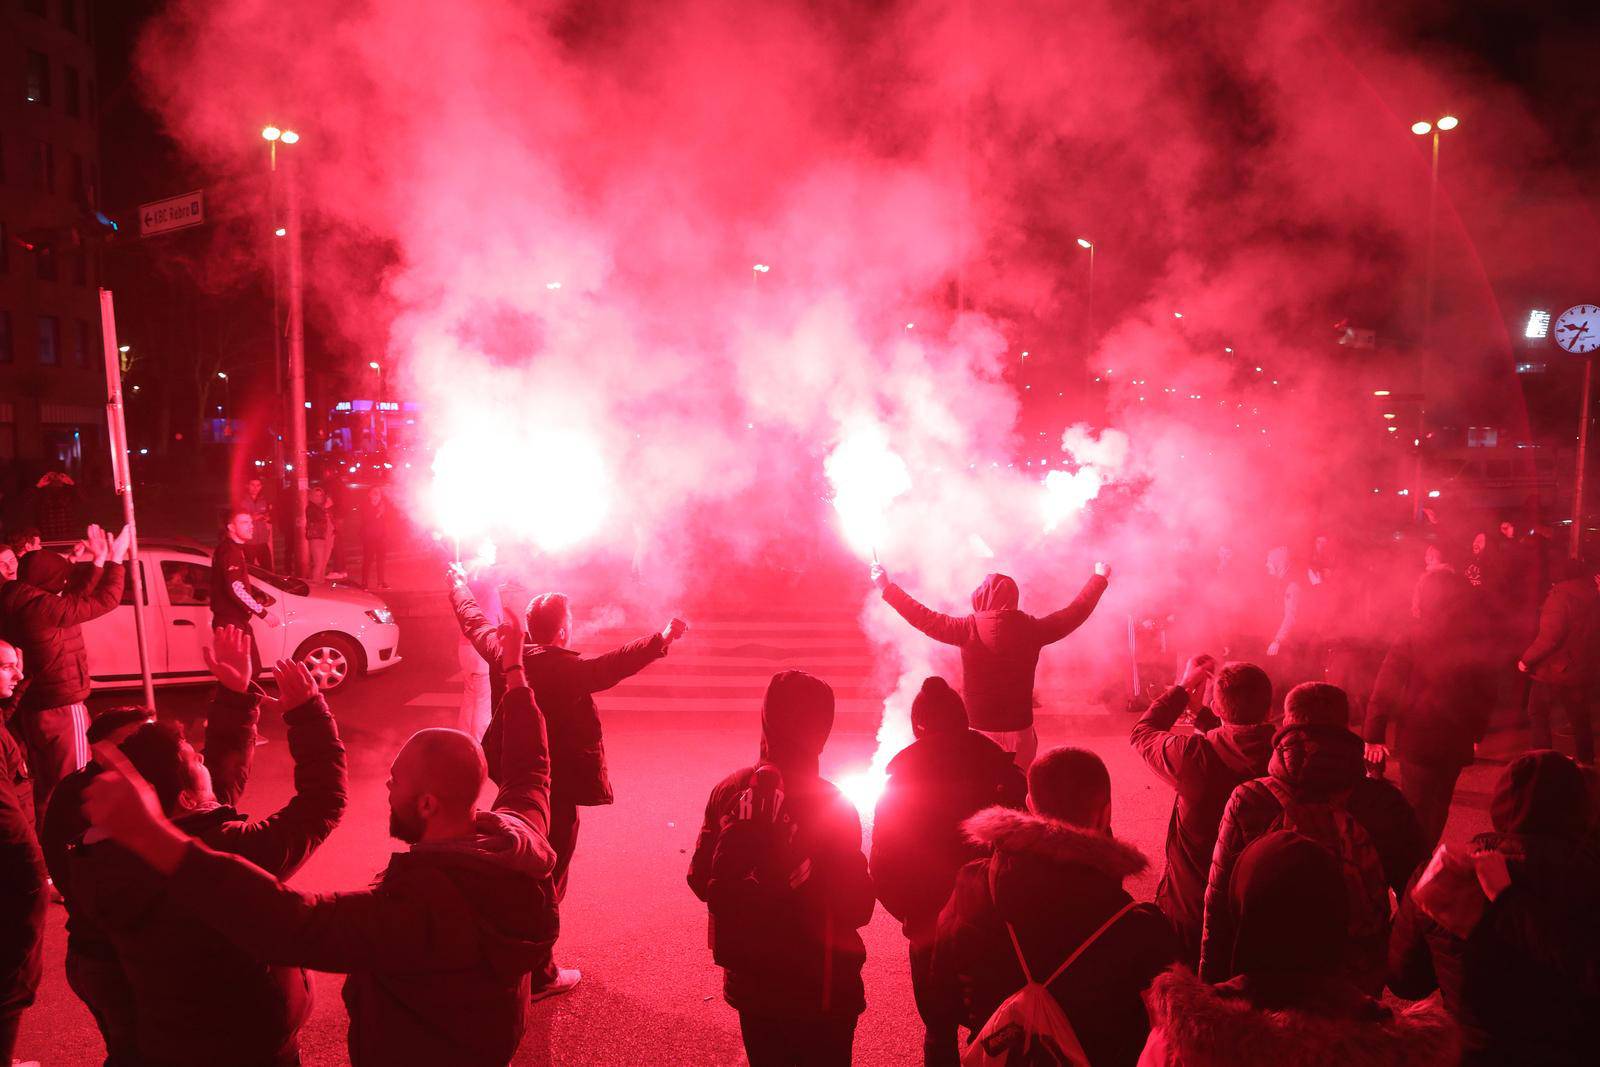
[[[1266,777],[1229,797],[1211,854],[1200,939],[1200,977],[1234,977],[1227,909],[1229,880],[1238,854],[1272,830],[1314,838],[1342,862],[1350,893],[1349,969],[1368,993],[1382,992],[1389,944],[1389,891],[1405,893],[1427,859],[1416,813],[1400,790],[1366,777],[1365,745],[1349,728],[1344,689],[1306,681],[1283,702],[1283,728],[1272,744]]]

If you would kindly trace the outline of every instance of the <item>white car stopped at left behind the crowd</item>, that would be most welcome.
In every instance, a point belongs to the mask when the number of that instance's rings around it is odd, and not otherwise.
[[[70,544],[45,545],[70,552]],[[144,576],[144,630],[155,685],[205,681],[200,654],[211,643],[211,550],[178,541],[139,545]],[[306,664],[323,693],[350,678],[400,662],[400,627],[381,597],[341,585],[312,585],[298,577],[250,568],[253,593],[280,625],[251,622],[261,662],[293,656]],[[133,577],[122,606],[83,625],[94,689],[125,689],[139,681],[139,646],[133,630]]]

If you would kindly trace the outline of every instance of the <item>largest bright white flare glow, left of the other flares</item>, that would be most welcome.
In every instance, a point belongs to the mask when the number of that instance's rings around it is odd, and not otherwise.
[[[462,542],[493,534],[562,552],[600,528],[611,477],[587,434],[482,426],[438,446],[429,502],[434,522]]]

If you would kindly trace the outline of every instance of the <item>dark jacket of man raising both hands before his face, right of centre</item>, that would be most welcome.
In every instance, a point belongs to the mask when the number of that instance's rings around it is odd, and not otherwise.
[[[1166,870],[1155,886],[1155,904],[1178,933],[1181,958],[1195,966],[1205,921],[1205,883],[1211,875],[1222,809],[1234,787],[1267,773],[1274,726],[1224,725],[1202,707],[1195,713],[1195,733],[1174,733],[1173,725],[1187,707],[1189,693],[1173,686],[1139,717],[1130,741],[1155,776],[1178,792],[1166,821]],[[1198,733],[1205,725],[1200,720],[1216,721],[1216,726]]]

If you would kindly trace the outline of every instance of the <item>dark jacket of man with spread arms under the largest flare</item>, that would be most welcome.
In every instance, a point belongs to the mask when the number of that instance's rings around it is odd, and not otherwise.
[[[461,632],[490,664],[493,691],[504,688],[501,678],[501,646],[494,625],[478,609],[477,600],[466,585],[456,585],[450,593],[450,606],[456,613]],[[600,729],[600,709],[594,694],[603,693],[667,654],[666,640],[659,633],[642,637],[622,648],[602,656],[579,656],[568,648],[554,645],[528,645],[523,651],[523,669],[533,697],[544,712],[550,739],[550,797],[574,805],[608,805],[614,800],[611,777],[605,765],[605,736]],[[483,734],[483,755],[490,761],[490,777],[501,765],[502,739],[499,720],[491,720]]]

